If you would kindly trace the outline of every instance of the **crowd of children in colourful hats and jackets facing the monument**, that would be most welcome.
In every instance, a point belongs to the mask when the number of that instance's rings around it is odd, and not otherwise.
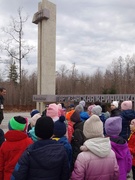
[[[126,180],[130,171],[135,179],[132,101],[110,109],[50,103],[30,116],[12,117],[5,134],[0,129],[1,180]]]

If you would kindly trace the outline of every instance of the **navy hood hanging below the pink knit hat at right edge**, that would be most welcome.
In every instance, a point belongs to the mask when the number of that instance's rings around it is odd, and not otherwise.
[[[121,117],[126,118],[127,120],[131,121],[135,118],[135,111],[132,109],[123,110],[121,112]]]

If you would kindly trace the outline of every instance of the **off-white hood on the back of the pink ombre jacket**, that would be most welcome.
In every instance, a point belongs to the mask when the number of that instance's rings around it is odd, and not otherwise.
[[[111,152],[111,143],[110,139],[99,137],[88,139],[84,142],[84,145],[89,149],[93,154],[99,157],[106,157]]]

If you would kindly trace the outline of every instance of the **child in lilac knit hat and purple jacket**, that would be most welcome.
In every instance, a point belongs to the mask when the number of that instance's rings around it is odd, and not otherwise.
[[[119,136],[122,130],[122,118],[120,116],[110,117],[105,122],[105,131],[110,137],[112,150],[115,152],[119,165],[119,180],[126,180],[127,173],[132,167],[131,154],[126,140]]]

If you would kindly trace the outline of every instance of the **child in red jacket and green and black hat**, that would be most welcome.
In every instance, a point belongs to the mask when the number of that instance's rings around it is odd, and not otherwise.
[[[9,131],[5,134],[6,141],[0,148],[0,179],[8,180],[12,171],[28,145],[33,141],[24,132],[26,119],[22,116],[15,116],[10,119]]]

